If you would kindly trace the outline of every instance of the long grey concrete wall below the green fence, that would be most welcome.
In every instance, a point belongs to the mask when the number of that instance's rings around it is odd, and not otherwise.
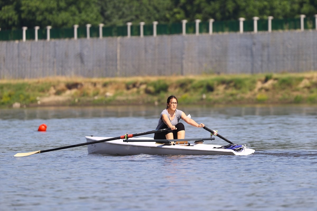
[[[0,79],[311,70],[314,30],[0,42]]]

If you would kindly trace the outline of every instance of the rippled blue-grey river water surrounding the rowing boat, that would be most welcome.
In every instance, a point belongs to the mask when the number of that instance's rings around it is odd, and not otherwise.
[[[1,109],[0,210],[317,210],[316,106],[178,107],[256,152],[110,157],[79,146],[16,158],[87,135],[151,131],[164,108]],[[43,123],[47,131],[38,132]],[[186,138],[210,135],[185,128]]]

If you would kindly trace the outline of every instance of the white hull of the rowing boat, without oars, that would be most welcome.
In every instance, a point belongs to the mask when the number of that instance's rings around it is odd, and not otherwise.
[[[110,139],[112,137],[94,137],[86,136],[87,142]],[[130,138],[133,139],[152,139],[147,137]],[[123,142],[120,140],[112,140],[89,144],[88,153],[97,153],[105,155],[249,155],[255,152],[253,149],[245,148],[241,152],[231,149],[217,149],[220,145],[211,144],[191,144],[186,145],[164,145],[155,142]]]

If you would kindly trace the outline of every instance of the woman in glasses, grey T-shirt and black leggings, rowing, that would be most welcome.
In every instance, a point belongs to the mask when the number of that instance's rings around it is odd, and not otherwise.
[[[177,104],[178,102],[175,96],[171,95],[167,98],[166,109],[164,109],[160,115],[156,130],[171,128],[171,131],[155,133],[154,139],[184,139],[185,127],[183,123],[179,122],[180,119],[194,127],[205,126],[203,123],[198,124],[196,121],[186,116],[183,111],[176,109]],[[217,132],[215,132],[214,135],[217,135]]]

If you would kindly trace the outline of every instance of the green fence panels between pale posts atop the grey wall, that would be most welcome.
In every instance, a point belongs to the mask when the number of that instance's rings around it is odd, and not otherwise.
[[[243,31],[252,32],[254,30],[254,21],[245,20],[243,22]],[[257,21],[258,31],[268,30],[268,20],[260,19]],[[239,21],[216,21],[212,25],[213,33],[223,33],[223,32],[239,32]],[[272,20],[272,30],[296,30],[301,28],[300,18],[287,18],[287,19],[273,19]],[[315,29],[315,17],[304,18],[304,29]],[[145,24],[143,26],[144,36],[153,35],[153,25]],[[196,33],[196,23],[188,22],[186,23],[186,34]],[[209,33],[209,22],[199,23],[199,33]],[[127,26],[107,26],[102,28],[103,37],[119,37],[127,36]],[[170,24],[158,24],[157,25],[157,35],[163,34],[182,34],[182,23],[170,23]],[[89,35],[91,38],[99,37],[99,27],[92,26],[89,30]],[[26,40],[35,39],[35,29],[29,28],[25,33]],[[131,36],[140,36],[140,26],[131,25]],[[84,26],[77,28],[77,37],[86,38],[87,29]],[[50,29],[50,39],[67,39],[74,38],[74,28],[51,28]],[[0,41],[4,40],[22,40],[23,30],[1,30],[0,31]],[[47,39],[47,29],[40,28],[38,30],[38,40]]]

